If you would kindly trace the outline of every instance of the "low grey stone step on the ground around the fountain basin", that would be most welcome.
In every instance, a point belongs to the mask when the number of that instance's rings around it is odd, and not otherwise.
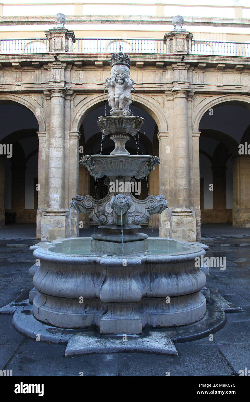
[[[57,328],[38,321],[33,316],[33,306],[24,301],[15,304],[16,310],[12,323],[14,328],[29,338],[36,339],[40,334],[41,342],[67,344],[65,356],[86,355],[90,353],[159,353],[177,355],[173,344],[191,342],[215,334],[226,324],[226,314],[242,312],[219,295],[216,288],[210,290],[207,312],[198,322],[169,329],[145,329],[141,335],[124,334],[100,335],[97,330],[72,330]],[[1,309],[2,310],[2,309]],[[13,314],[6,309],[2,314]],[[1,313],[1,312],[0,312]]]

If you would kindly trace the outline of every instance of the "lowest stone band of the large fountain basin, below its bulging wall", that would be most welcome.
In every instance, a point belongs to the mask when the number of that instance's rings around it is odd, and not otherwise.
[[[103,298],[109,297],[103,292]],[[98,298],[55,297],[39,293],[33,301],[35,318],[46,324],[64,328],[93,328],[100,334],[141,334],[144,328],[169,328],[201,320],[206,300],[200,293],[171,297],[143,297],[138,302],[102,302]]]

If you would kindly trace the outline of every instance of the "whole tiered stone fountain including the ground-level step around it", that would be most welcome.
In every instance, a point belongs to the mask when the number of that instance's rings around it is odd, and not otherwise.
[[[160,159],[126,150],[143,119],[131,116],[129,109],[134,85],[130,56],[113,54],[110,64],[110,116],[97,123],[102,142],[110,135],[114,150],[80,160],[96,180],[106,176],[109,191],[104,199],[76,195],[70,203],[102,232],[30,247],[38,262],[30,268],[35,288],[29,300],[13,302],[0,313],[15,312],[13,325],[32,338],[39,334],[41,340],[68,343],[65,356],[117,351],[177,355],[173,342],[214,333],[225,324],[225,311],[242,310],[216,289],[209,293],[205,288],[209,269],[195,260],[203,261],[207,246],[141,232],[152,214],[167,208],[163,195],[140,200],[132,194],[136,180],[148,176]]]

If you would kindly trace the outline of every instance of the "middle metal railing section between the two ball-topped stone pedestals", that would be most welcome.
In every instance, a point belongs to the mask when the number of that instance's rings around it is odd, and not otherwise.
[[[162,39],[76,39],[75,53],[166,53]]]

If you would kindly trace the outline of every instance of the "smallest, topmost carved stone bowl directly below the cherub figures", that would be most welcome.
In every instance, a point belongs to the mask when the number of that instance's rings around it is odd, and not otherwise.
[[[136,135],[143,125],[143,117],[138,116],[101,116],[97,124],[104,137],[108,134]]]

